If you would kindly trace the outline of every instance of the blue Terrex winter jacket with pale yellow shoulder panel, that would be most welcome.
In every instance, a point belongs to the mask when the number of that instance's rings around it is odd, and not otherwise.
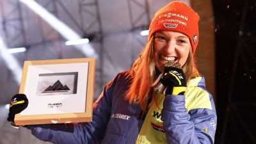
[[[106,84],[93,104],[92,122],[27,128],[36,138],[59,144],[136,143],[144,120],[140,105],[124,100],[130,83],[126,71]],[[212,95],[205,90],[204,77],[191,79],[185,95],[166,95],[164,99],[161,115],[166,143],[214,143],[216,110]]]

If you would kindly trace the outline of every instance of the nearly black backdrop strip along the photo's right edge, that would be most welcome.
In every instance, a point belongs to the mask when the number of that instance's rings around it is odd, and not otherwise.
[[[217,30],[215,143],[256,143],[256,1],[212,4]]]

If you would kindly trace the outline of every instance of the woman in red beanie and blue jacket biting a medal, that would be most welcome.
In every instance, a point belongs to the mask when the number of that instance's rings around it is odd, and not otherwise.
[[[27,128],[40,140],[62,144],[214,143],[214,101],[193,58],[198,20],[183,2],[164,6],[132,69],[106,84],[93,104],[92,122]],[[179,67],[166,66],[170,61]]]

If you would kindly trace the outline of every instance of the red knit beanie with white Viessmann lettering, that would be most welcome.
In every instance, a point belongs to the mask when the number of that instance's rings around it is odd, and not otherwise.
[[[148,41],[156,31],[177,31],[189,37],[192,53],[198,44],[199,15],[182,1],[173,1],[156,12],[148,33]]]

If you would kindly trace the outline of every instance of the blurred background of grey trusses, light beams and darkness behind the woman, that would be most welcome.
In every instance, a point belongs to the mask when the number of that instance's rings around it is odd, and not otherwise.
[[[24,61],[95,58],[96,100],[131,68],[147,43],[141,31],[171,1],[0,0],[0,144],[45,143],[6,120]],[[215,143],[256,143],[256,0],[183,1],[200,15],[196,58],[216,102]],[[77,39],[89,42],[68,42]]]

